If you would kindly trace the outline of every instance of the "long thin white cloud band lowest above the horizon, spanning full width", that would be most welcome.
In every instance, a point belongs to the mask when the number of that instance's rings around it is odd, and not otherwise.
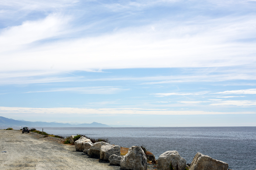
[[[256,112],[206,112],[189,110],[141,109],[141,108],[31,108],[31,107],[0,107],[4,114],[84,114],[84,115],[220,115],[220,114],[256,114]]]

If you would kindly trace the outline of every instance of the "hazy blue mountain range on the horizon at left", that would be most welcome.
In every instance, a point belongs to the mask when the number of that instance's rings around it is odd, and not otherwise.
[[[83,124],[69,124],[56,122],[29,122],[24,120],[8,119],[0,116],[0,127],[111,127],[106,124],[92,122]]]

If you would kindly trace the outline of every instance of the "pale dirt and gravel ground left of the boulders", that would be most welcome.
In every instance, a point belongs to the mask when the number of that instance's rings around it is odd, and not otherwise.
[[[35,134],[36,135],[36,134]],[[0,169],[85,169],[117,170],[98,159],[76,152],[74,145],[36,138],[19,130],[0,130]]]

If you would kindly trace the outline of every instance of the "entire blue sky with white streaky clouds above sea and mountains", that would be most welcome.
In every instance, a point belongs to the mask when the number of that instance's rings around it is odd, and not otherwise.
[[[256,126],[256,0],[2,0],[0,116]]]

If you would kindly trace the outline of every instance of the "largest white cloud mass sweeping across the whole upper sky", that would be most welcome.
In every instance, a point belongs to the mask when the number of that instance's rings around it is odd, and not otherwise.
[[[74,31],[65,28],[68,22],[65,17],[49,16],[43,20],[26,21],[21,26],[7,28],[1,34],[0,44],[6,48],[5,52],[0,52],[0,71],[45,70],[53,63],[53,69],[59,71],[221,67],[255,63],[256,42],[245,44],[236,41],[252,37],[255,33],[255,16],[200,19],[202,21],[193,22],[196,25],[191,22],[159,21],[90,38],[86,34],[77,39],[32,43],[20,49],[14,46],[15,43],[28,44],[63,31]],[[151,29],[152,25],[156,31]],[[28,34],[30,31],[31,35]]]

